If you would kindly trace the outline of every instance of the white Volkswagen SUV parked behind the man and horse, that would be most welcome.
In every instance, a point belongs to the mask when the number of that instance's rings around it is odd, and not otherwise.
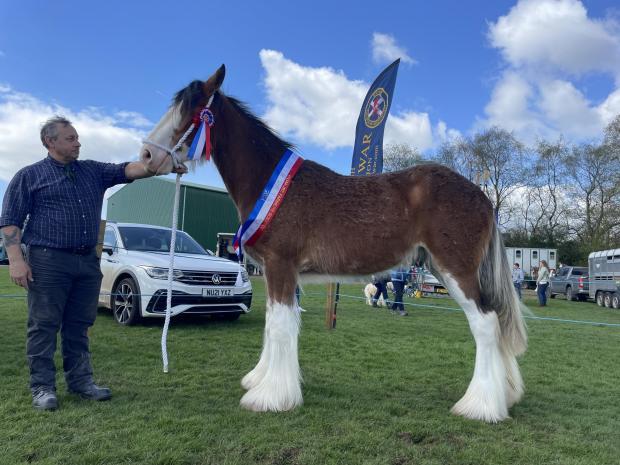
[[[166,315],[171,229],[108,223],[101,254],[99,304],[116,321],[130,325],[143,317]],[[177,231],[171,315],[217,315],[236,320],[250,311],[252,284],[238,263],[214,256]]]

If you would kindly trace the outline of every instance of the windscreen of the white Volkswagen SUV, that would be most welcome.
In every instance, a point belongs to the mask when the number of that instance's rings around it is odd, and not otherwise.
[[[167,229],[121,226],[118,228],[127,250],[140,252],[170,252],[172,231]],[[198,242],[183,231],[177,231],[175,253],[210,255]]]

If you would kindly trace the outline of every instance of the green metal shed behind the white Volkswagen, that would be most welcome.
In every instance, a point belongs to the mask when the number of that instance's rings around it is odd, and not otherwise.
[[[107,221],[172,226],[175,181],[153,177],[123,186],[108,198]],[[215,251],[217,233],[235,232],[237,209],[225,189],[181,182],[178,228]]]

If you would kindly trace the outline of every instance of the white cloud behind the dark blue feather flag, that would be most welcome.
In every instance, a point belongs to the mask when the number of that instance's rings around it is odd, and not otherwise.
[[[370,84],[349,80],[332,68],[301,66],[274,50],[261,50],[268,108],[264,117],[284,136],[327,149],[350,147],[360,106]],[[407,143],[424,150],[434,145],[427,113],[390,112],[386,143]]]

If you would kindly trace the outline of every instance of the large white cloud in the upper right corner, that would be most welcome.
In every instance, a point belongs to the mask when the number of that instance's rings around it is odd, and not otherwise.
[[[620,35],[611,19],[589,18],[577,0],[521,0],[489,25],[488,38],[506,60],[485,107],[483,125],[537,137],[598,137],[620,111],[620,89],[602,102],[579,88],[584,75],[620,85]]]

